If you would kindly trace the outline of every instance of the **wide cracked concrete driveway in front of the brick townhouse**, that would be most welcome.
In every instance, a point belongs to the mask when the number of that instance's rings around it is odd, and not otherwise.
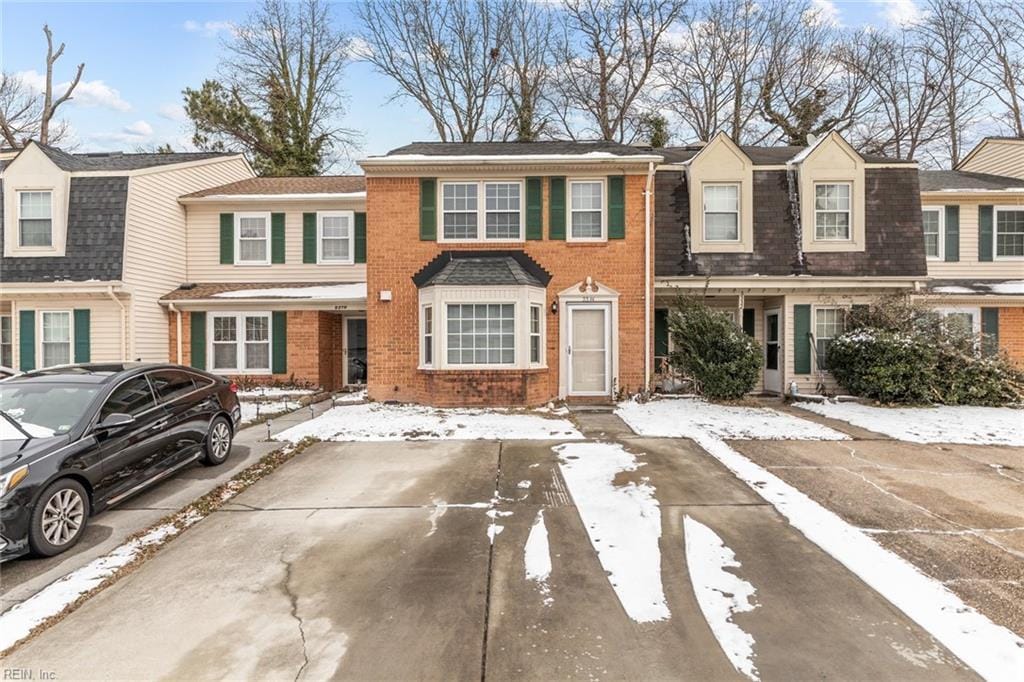
[[[696,445],[624,442],[643,466],[615,484],[649,485],[659,505],[667,620],[624,609],[556,443],[321,443],[3,666],[108,680],[743,679],[695,598],[688,516],[756,589],[733,621],[762,679],[975,678]],[[541,509],[544,591],[524,571]]]

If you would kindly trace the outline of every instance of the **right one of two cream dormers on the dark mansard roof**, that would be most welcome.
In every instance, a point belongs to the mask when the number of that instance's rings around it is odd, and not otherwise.
[[[795,157],[805,252],[864,250],[864,158],[833,131]]]

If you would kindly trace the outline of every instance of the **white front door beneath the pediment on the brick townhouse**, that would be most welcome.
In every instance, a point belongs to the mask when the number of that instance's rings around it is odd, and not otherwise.
[[[567,309],[569,395],[610,395],[610,306],[607,303],[573,303]]]

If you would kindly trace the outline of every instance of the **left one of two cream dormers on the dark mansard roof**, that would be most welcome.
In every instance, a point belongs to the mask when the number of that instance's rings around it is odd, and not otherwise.
[[[690,250],[754,251],[754,162],[718,133],[687,163]]]

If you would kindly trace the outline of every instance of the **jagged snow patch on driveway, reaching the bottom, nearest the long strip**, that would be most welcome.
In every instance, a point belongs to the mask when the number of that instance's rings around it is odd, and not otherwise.
[[[707,525],[683,517],[686,569],[693,594],[715,639],[732,667],[752,680],[760,679],[754,666],[754,638],[732,622],[733,613],[757,608],[754,586],[727,568],[738,568],[736,555]]]

